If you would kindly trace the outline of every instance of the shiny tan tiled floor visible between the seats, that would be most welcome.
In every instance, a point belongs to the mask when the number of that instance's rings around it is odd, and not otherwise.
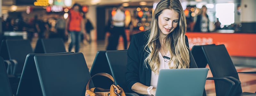
[[[107,38],[107,37],[106,37]],[[36,38],[33,39],[31,45],[33,48],[36,46]],[[70,42],[70,41],[69,41]],[[66,49],[68,49],[68,42],[65,43]],[[107,39],[102,41],[92,41],[91,44],[84,41],[84,43],[80,44],[80,52],[84,54],[86,63],[88,65],[88,68],[90,69],[93,63],[93,60],[95,58],[95,55],[97,51],[100,50],[106,50],[107,46]],[[123,43],[122,38],[119,40],[118,50],[123,50]],[[74,48],[73,48],[74,51]],[[207,66],[207,68],[209,68]],[[246,67],[236,67],[238,72],[244,72],[244,71],[256,71],[256,68],[246,68]],[[212,73],[209,70],[208,76],[212,77]],[[239,74],[239,78],[242,85],[243,92],[255,92],[256,91],[256,74]],[[205,89],[207,96],[216,96],[215,94],[215,86],[213,80],[207,80],[205,84]]]

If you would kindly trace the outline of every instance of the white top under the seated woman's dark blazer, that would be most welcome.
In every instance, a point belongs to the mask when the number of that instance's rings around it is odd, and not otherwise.
[[[169,51],[166,53],[166,55],[167,55],[167,57],[171,57],[171,54]],[[164,57],[162,56],[162,54],[160,52],[158,52],[158,57],[160,60],[159,71],[161,69],[170,69],[170,67],[168,65],[169,62],[165,62],[165,61],[169,61],[169,60],[164,59]],[[170,62],[171,62],[171,65],[173,65],[173,61],[170,61]],[[156,88],[158,76],[159,76],[159,74],[155,74],[153,71],[151,71],[150,86],[153,86],[154,88]]]

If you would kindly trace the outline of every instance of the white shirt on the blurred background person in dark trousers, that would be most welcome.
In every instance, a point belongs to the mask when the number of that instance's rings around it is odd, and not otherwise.
[[[116,14],[112,17],[113,25],[117,27],[124,27],[125,15],[120,9],[116,10]],[[118,21],[118,22],[115,22]]]

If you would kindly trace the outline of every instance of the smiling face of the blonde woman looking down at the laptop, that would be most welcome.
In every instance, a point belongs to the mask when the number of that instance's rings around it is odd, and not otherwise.
[[[158,16],[158,26],[161,36],[170,34],[179,24],[180,14],[174,10],[164,9]]]

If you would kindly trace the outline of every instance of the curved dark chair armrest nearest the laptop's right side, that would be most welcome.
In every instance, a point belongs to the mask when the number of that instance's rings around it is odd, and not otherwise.
[[[233,82],[232,80],[225,78],[225,77],[208,77],[207,80],[221,80],[221,81],[225,81],[229,84],[230,88],[228,89],[228,92],[226,93],[225,96],[231,96],[232,94],[232,90],[235,87],[235,82]]]

